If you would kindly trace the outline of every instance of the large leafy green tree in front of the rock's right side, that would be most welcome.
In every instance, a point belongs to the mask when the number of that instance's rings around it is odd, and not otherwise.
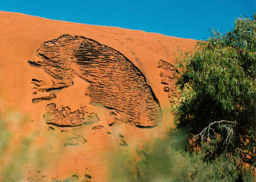
[[[181,97],[174,109],[178,126],[187,125],[196,135],[214,121],[234,122],[236,140],[229,151],[243,148],[240,139],[247,137],[246,147],[254,153],[255,28],[255,19],[238,18],[232,31],[224,35],[213,31],[212,37],[199,41],[194,53],[182,55],[176,65],[181,74],[176,83]],[[224,139],[218,147],[225,150],[225,134],[218,128],[215,133]]]

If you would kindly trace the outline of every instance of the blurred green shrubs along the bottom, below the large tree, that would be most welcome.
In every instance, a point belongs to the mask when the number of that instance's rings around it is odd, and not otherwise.
[[[219,158],[204,162],[205,150],[188,152],[181,149],[183,135],[171,133],[167,139],[156,139],[138,148],[136,155],[121,152],[114,155],[110,181],[236,181],[242,175],[244,181],[252,181],[253,175],[237,170],[237,156],[221,154]],[[207,145],[207,143],[205,143]],[[207,148],[207,146],[205,146]],[[179,148],[179,149],[178,149]]]

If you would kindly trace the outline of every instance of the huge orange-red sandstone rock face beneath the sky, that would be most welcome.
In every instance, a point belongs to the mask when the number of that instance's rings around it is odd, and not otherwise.
[[[46,181],[73,174],[108,181],[108,153],[173,127],[175,51],[195,40],[9,12],[0,21],[0,111],[27,116],[13,146],[40,133],[33,145],[51,161],[24,164],[31,180],[40,171]]]

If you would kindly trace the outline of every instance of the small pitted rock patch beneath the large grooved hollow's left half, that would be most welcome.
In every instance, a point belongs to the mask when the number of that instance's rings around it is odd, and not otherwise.
[[[56,109],[55,103],[47,105],[44,118],[47,124],[60,127],[74,127],[99,121],[97,114],[89,113],[85,106],[71,112],[69,107],[62,107],[60,110]]]

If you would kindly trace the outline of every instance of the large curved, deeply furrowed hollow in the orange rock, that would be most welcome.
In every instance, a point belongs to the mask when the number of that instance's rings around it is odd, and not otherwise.
[[[38,88],[35,93],[69,87],[72,78],[79,76],[90,83],[85,92],[90,102],[117,113],[116,120],[138,127],[153,127],[161,121],[158,99],[145,76],[119,51],[82,36],[62,35],[42,44],[37,56],[42,60],[28,63],[52,76],[53,86]]]

